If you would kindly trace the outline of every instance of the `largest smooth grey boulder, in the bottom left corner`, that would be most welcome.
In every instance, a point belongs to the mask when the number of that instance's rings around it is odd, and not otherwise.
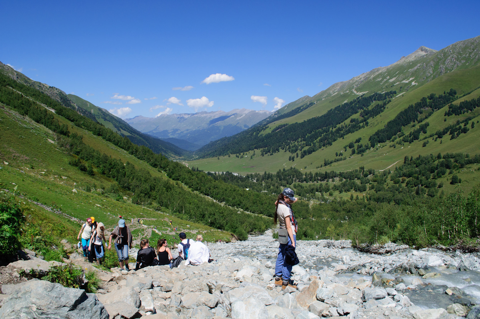
[[[0,318],[108,319],[95,294],[44,280],[23,282],[0,308]]]

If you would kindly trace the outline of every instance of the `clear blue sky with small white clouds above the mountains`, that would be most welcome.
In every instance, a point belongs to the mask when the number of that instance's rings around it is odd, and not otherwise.
[[[123,118],[154,117],[274,110],[480,35],[480,1],[388,2],[2,1],[0,61]]]

